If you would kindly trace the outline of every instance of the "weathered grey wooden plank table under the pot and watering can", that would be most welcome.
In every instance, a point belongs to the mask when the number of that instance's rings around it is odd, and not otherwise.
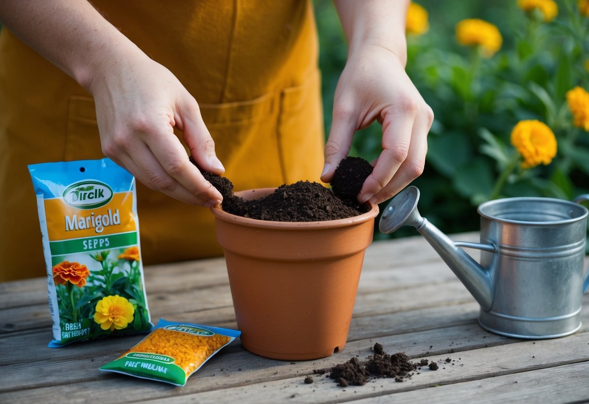
[[[478,241],[478,234],[452,237]],[[366,251],[348,343],[325,359],[283,362],[244,350],[239,339],[211,358],[183,388],[98,371],[143,336],[51,349],[45,279],[0,284],[0,403],[578,403],[589,400],[589,294],[583,327],[571,336],[519,340],[477,323],[478,304],[421,236],[375,241]],[[145,268],[153,321],[235,328],[224,260]],[[425,357],[411,379],[372,379],[342,388],[313,369],[378,342],[388,353]],[[445,362],[450,358],[451,362]]]

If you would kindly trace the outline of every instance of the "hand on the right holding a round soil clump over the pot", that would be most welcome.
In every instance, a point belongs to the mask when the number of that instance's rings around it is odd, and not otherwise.
[[[389,49],[366,45],[349,56],[337,82],[322,181],[332,180],[355,131],[375,120],[382,124],[382,153],[371,163],[374,170],[360,190],[360,203],[381,203],[422,174],[434,120],[399,57]]]

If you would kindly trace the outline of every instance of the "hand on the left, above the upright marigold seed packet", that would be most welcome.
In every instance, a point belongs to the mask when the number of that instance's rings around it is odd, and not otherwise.
[[[215,154],[198,104],[165,67],[143,52],[108,59],[90,78],[102,153],[145,186],[204,207],[223,197],[188,161],[183,138],[199,167],[214,174],[225,169]]]

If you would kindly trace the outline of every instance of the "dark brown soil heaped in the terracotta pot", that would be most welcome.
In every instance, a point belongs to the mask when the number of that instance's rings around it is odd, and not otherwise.
[[[334,181],[339,184],[343,184],[345,181],[361,181],[359,187],[362,188],[362,184],[369,174],[363,178],[362,175],[352,176],[349,168],[346,168],[339,172],[348,178],[347,180],[341,180],[336,175],[342,164],[343,167],[348,165],[345,163],[348,159],[355,161],[353,165],[358,164],[358,160],[362,160],[358,157],[348,157],[342,160],[334,175]],[[190,157],[190,161],[198,167],[192,157]],[[367,161],[365,163],[368,164]],[[338,197],[321,184],[310,181],[283,184],[268,196],[244,201],[243,198],[233,194],[233,184],[228,178],[204,171],[200,167],[198,169],[203,177],[223,196],[223,210],[237,216],[273,221],[323,221],[358,216],[369,210],[368,206],[359,205],[356,200],[357,193],[353,194],[352,198],[345,195]],[[358,184],[354,184],[354,186],[358,188]]]

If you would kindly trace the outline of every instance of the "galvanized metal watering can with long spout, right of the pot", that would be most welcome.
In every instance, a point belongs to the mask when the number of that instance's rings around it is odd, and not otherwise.
[[[401,191],[383,211],[379,229],[413,226],[434,247],[481,306],[479,324],[515,338],[544,339],[580,329],[587,208],[541,197],[503,198],[478,207],[481,243],[452,241],[417,210],[419,190]],[[461,247],[481,250],[477,263]]]

